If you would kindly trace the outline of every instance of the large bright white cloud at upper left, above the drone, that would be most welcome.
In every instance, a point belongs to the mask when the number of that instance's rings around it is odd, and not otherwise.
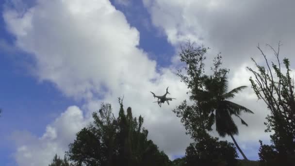
[[[38,0],[24,14],[6,10],[4,19],[36,60],[35,75],[66,96],[89,99],[156,76],[156,63],[137,48],[139,32],[108,0]]]

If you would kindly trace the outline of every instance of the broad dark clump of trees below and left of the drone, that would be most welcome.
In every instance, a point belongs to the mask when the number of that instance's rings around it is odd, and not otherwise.
[[[168,156],[147,139],[142,116],[127,114],[119,98],[119,116],[115,118],[111,104],[101,104],[93,113],[94,122],[77,133],[67,155],[74,166],[170,166]]]

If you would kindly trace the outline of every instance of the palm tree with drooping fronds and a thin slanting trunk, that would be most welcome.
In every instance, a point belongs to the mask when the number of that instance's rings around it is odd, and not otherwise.
[[[221,137],[229,135],[244,159],[248,160],[233,137],[233,135],[237,135],[239,131],[231,116],[239,117],[242,124],[248,126],[240,117],[241,112],[254,113],[244,106],[229,101],[235,97],[235,94],[242,91],[247,86],[239,86],[228,92],[228,81],[225,76],[219,79],[206,77],[204,80],[204,90],[192,92],[190,98],[197,99],[203,103],[202,109],[211,112],[210,119],[212,119],[213,122],[215,121],[217,133]]]

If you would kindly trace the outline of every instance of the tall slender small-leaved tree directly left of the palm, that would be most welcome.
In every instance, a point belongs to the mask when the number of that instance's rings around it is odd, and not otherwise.
[[[189,92],[203,92],[204,91],[204,60],[206,59],[205,53],[209,48],[194,47],[190,41],[183,47],[181,46],[180,61],[186,63],[184,70],[178,70],[176,75],[180,77],[180,82],[187,85]],[[189,93],[187,92],[187,94]],[[208,98],[209,99],[209,98]],[[190,134],[193,139],[206,139],[210,137],[207,131],[212,130],[213,119],[209,118],[210,109],[206,108],[209,100],[197,101],[188,104],[184,100],[179,106],[173,109],[173,112],[180,117],[183,123],[186,134]]]

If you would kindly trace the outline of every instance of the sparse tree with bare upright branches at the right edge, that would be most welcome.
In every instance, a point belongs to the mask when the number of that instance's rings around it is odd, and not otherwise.
[[[258,45],[258,50],[262,53],[265,66],[259,65],[253,58],[257,70],[247,67],[253,74],[250,82],[259,100],[263,100],[270,114],[266,116],[267,122],[265,132],[273,131],[272,145],[262,145],[260,147],[260,162],[262,165],[280,163],[280,165],[291,166],[295,163],[295,89],[294,78],[291,77],[290,62],[288,59],[279,58],[280,43],[278,50],[268,46],[275,55],[276,63],[269,63],[266,54]],[[283,71],[285,73],[283,73]]]

